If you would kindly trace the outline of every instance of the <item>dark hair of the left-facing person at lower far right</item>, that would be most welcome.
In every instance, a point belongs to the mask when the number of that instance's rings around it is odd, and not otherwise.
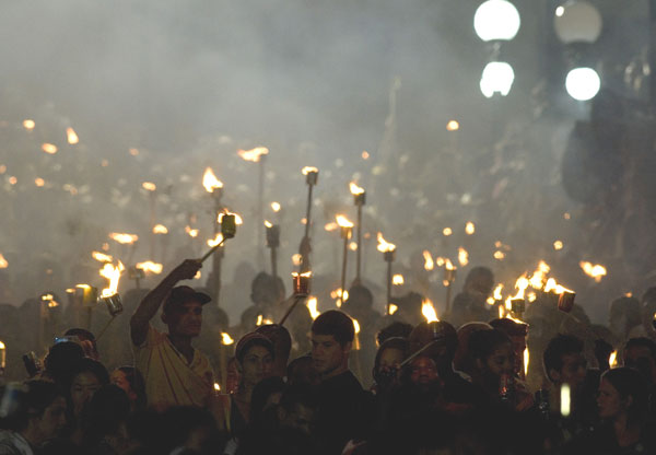
[[[631,405],[626,409],[629,423],[642,423],[649,411],[649,388],[647,381],[637,370],[625,366],[608,370],[601,375],[601,381],[608,381],[620,394],[622,399],[631,396]]]

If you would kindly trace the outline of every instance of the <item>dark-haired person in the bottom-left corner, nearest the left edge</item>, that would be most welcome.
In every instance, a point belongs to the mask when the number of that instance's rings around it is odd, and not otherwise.
[[[14,387],[17,410],[3,420],[0,430],[0,454],[33,455],[66,425],[66,400],[56,384],[27,381]],[[4,395],[4,394],[3,394]]]

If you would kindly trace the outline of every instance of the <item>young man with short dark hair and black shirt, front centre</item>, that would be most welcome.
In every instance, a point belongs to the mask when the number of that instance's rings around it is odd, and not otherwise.
[[[363,435],[366,398],[349,370],[355,328],[344,313],[330,310],[313,323],[312,360],[319,373],[317,438],[326,454],[341,454],[347,442]]]

